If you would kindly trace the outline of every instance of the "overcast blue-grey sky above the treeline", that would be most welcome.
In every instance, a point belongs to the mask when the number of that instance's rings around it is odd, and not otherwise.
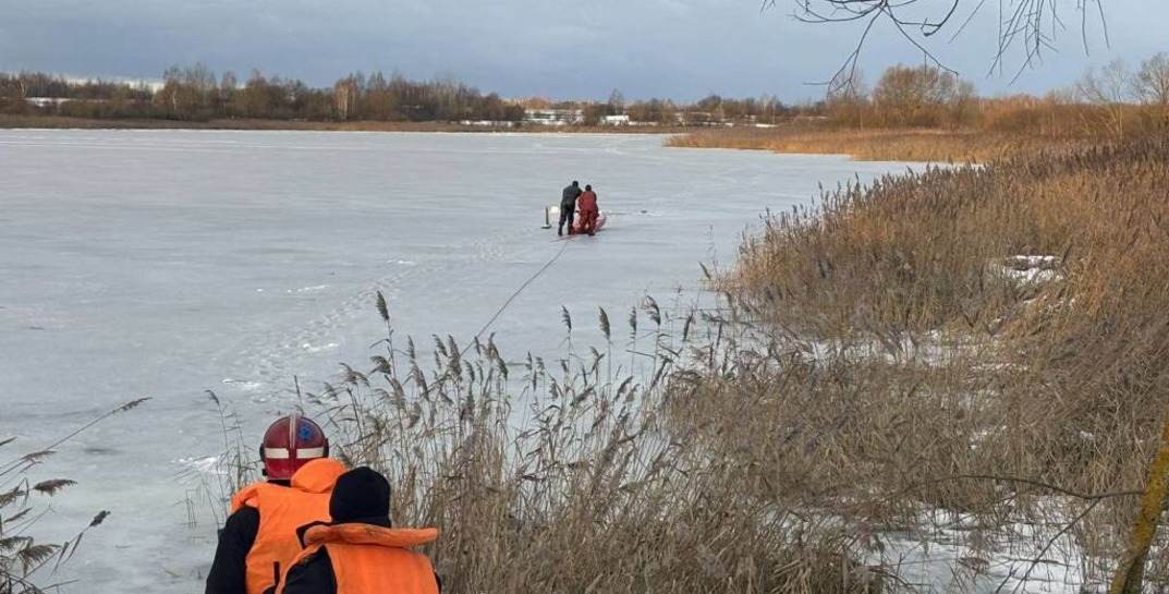
[[[943,0],[922,0],[948,5]],[[1004,0],[1004,4],[1011,0]],[[997,4],[987,2],[950,42],[928,47],[984,94],[1043,92],[1072,83],[1090,64],[1129,64],[1169,51],[1169,1],[1104,0],[1111,47],[1088,19],[1085,55],[1073,0],[1058,51],[1024,72],[988,77]],[[448,76],[504,96],[694,99],[772,94],[818,97],[810,85],[839,65],[856,26],[793,19],[794,0],[761,11],[758,0],[0,0],[0,70],[158,78],[171,64],[203,62],[216,72],[253,68],[331,85],[346,72]],[[963,8],[973,8],[966,0]],[[960,15],[964,18],[963,15]],[[922,54],[878,26],[862,68]],[[1008,63],[1018,65],[1018,60]]]

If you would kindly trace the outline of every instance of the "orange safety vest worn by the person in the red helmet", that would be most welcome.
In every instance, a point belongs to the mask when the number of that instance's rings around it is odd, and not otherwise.
[[[300,467],[289,486],[253,483],[231,497],[231,513],[243,506],[260,511],[260,530],[248,552],[248,594],[263,594],[300,553],[296,530],[313,522],[328,522],[328,497],[340,462],[319,458]]]

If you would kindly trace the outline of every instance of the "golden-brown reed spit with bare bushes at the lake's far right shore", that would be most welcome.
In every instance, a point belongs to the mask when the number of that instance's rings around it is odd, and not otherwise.
[[[839,90],[819,119],[776,129],[732,127],[671,138],[671,146],[851,154],[864,160],[987,163],[1039,148],[1169,132],[1169,56],[1136,72],[1113,63],[1088,71],[1072,91],[1046,97],[978,98],[968,83],[934,67],[892,67],[872,94]]]

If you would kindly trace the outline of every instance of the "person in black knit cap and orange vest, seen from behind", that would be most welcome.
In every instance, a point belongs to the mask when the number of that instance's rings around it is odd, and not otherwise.
[[[438,594],[430,559],[410,547],[438,538],[437,529],[395,529],[389,482],[366,467],[337,479],[331,523],[302,529],[305,550],[277,594]]]

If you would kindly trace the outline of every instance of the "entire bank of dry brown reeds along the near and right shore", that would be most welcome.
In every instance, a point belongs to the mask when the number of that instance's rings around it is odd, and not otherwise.
[[[915,539],[961,547],[952,589],[1009,557],[1091,589],[1169,389],[1167,161],[1143,141],[846,188],[772,217],[721,309],[650,302],[629,338],[606,315],[551,364],[387,340],[310,400],[396,522],[443,529],[452,590],[890,590]]]

